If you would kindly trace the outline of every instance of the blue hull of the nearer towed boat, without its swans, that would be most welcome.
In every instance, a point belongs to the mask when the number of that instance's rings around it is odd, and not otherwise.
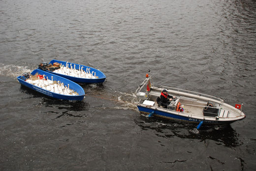
[[[69,84],[69,88],[75,90],[79,95],[63,95],[63,94],[58,94],[58,93],[48,91],[39,86],[35,86],[35,85],[32,85],[32,84],[26,82],[24,76],[19,76],[19,77],[17,77],[17,79],[21,85],[27,86],[27,87],[31,88],[32,90],[35,90],[35,91],[42,93],[49,97],[53,97],[56,99],[63,99],[63,100],[80,100],[80,101],[84,99],[85,92],[84,92],[84,89],[80,85],[78,85],[68,79],[65,79],[63,77],[60,77],[60,76],[57,76],[57,75],[54,75],[54,74],[51,74],[51,73],[48,73],[48,72],[45,72],[45,71],[42,71],[39,69],[35,69],[34,71],[32,71],[31,75],[35,75],[36,73],[45,75],[48,78],[51,78],[53,76],[54,81],[60,81],[61,83],[64,83],[64,85]]]

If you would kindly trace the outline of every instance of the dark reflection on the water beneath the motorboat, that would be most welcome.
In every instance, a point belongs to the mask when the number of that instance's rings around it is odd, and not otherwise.
[[[197,139],[201,142],[213,140],[217,145],[228,147],[240,146],[238,135],[233,128],[227,125],[203,125],[200,130],[195,124],[148,118],[139,116],[134,122],[143,130],[155,130],[156,135],[164,138],[179,137],[182,139]]]

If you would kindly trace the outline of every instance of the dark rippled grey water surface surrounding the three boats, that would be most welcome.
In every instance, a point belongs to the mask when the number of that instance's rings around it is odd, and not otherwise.
[[[255,0],[0,0],[0,170],[253,171]],[[59,59],[101,70],[82,102],[16,77]],[[246,118],[202,126],[147,118],[134,91],[153,84],[244,104]]]

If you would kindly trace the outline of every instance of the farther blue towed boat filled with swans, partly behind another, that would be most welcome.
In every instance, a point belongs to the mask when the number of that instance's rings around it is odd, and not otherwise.
[[[56,59],[51,60],[49,64],[43,63],[41,66],[39,65],[39,69],[64,77],[75,83],[103,83],[106,79],[106,76],[95,68]]]

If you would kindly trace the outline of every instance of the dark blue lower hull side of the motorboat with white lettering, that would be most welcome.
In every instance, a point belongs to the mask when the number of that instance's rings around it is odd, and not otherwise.
[[[169,119],[169,120],[179,120],[179,121],[185,121],[185,122],[190,122],[190,123],[195,123],[195,124],[199,124],[201,121],[203,121],[203,124],[229,124],[232,123],[234,121],[218,121],[218,120],[202,120],[202,119],[197,119],[197,118],[193,118],[193,117],[186,117],[186,116],[182,116],[182,115],[178,115],[178,114],[171,114],[171,113],[167,113],[167,112],[162,112],[159,110],[154,110],[151,108],[146,108],[143,106],[137,106],[138,110],[141,113],[144,114],[150,114],[154,111],[154,116],[156,117],[161,117],[161,118],[165,118],[165,119]]]

